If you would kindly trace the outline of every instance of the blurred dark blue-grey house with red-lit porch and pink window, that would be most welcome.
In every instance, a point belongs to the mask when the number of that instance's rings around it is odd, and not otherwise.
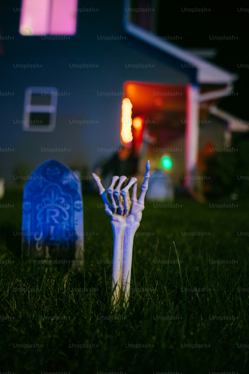
[[[129,0],[40,4],[8,5],[2,26],[0,176],[7,184],[47,159],[88,165],[82,177],[91,178],[96,162],[121,149],[124,98],[154,139],[146,145],[140,134],[141,159],[157,167],[170,157],[174,184],[193,173],[207,140],[228,145],[238,121],[216,106],[233,92],[235,74],[146,30]]]

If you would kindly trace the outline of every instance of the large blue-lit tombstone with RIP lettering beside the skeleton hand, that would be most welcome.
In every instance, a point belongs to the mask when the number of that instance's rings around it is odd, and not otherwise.
[[[29,176],[22,203],[22,257],[72,260],[83,266],[81,183],[55,160],[39,165]],[[78,262],[77,262],[78,260]],[[62,261],[58,261],[62,263]]]

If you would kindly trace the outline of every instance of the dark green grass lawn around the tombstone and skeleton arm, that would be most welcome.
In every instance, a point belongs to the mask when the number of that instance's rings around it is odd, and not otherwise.
[[[6,203],[15,206],[0,210],[1,373],[248,373],[249,202],[146,201],[129,308],[116,319],[113,235],[100,196],[83,196],[82,273],[21,261],[13,235],[21,232],[21,192],[6,191]]]

